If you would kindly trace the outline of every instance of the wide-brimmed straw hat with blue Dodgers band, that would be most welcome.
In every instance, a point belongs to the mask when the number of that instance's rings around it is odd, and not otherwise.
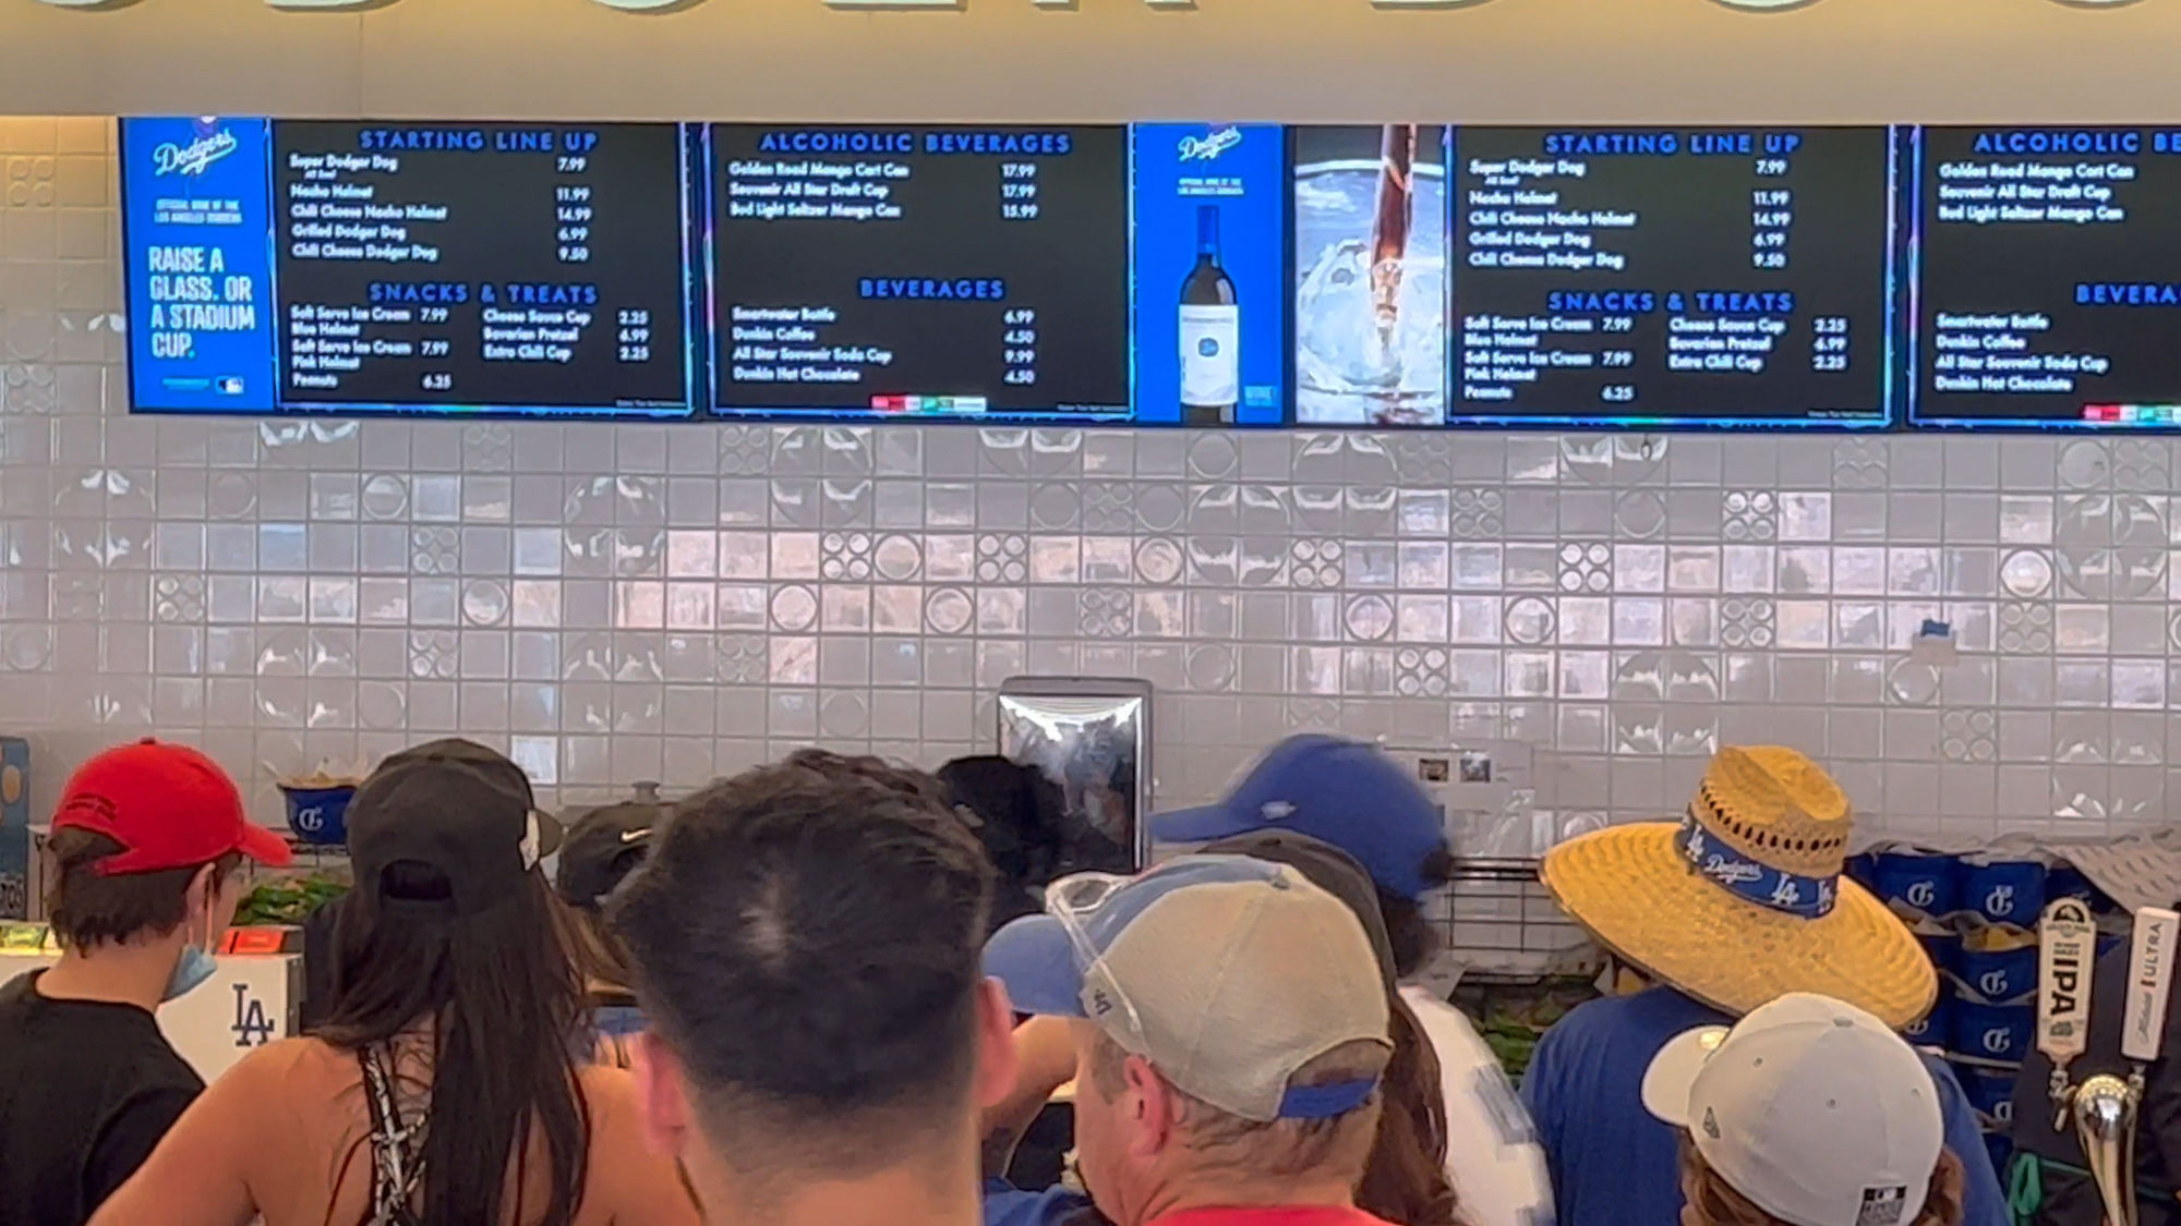
[[[1821,766],[1727,746],[1686,818],[1564,842],[1540,877],[1601,945],[1714,1008],[1819,993],[1902,1027],[1930,1012],[1939,975],[1908,927],[1841,877],[1852,833]]]

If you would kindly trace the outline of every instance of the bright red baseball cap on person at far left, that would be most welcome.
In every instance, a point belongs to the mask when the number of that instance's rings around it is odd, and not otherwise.
[[[294,860],[286,840],[242,812],[242,792],[220,764],[155,740],[113,746],[76,768],[52,827],[122,844],[98,862],[100,877],[194,868],[229,851],[275,868]]]

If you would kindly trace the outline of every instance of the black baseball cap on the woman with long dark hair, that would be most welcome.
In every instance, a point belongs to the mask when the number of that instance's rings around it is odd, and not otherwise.
[[[349,801],[349,857],[360,888],[379,890],[386,868],[436,868],[449,899],[432,910],[491,910],[523,888],[539,860],[561,849],[561,822],[541,814],[530,777],[506,755],[465,740],[406,748],[371,772]],[[410,903],[417,899],[386,899]]]

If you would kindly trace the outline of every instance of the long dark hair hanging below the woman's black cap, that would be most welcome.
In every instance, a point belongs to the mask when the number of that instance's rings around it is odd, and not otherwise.
[[[334,1001],[314,1034],[356,1051],[430,1021],[419,1219],[571,1226],[591,1113],[576,1073],[585,995],[565,908],[541,873],[467,916],[451,912],[454,884],[425,864],[397,860],[358,886],[334,921]],[[545,1137],[543,1213],[521,1204],[532,1130]]]

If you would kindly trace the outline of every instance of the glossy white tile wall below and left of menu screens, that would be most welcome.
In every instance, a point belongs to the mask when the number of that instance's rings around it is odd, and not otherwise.
[[[1180,434],[129,417],[107,120],[0,120],[0,731],[467,733],[558,801],[1158,685],[1162,803],[1287,731],[1518,737],[1566,820],[1721,742],[1989,836],[2181,798],[2164,438]],[[1908,659],[1950,620],[1961,663]]]

